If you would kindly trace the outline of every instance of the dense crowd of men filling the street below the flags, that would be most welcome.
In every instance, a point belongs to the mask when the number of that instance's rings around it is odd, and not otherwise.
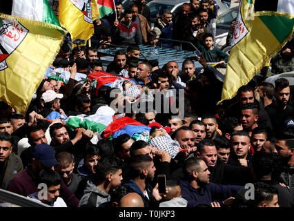
[[[210,9],[214,1],[184,3],[176,18],[165,11],[153,31],[144,2],[134,1],[124,12],[117,2],[117,17],[95,21],[91,47],[71,50],[63,44],[50,70],[68,78],[46,75],[26,115],[0,102],[1,189],[56,207],[293,207],[294,112],[288,79],[273,85],[255,77],[217,105],[223,82],[206,62],[216,57],[226,62],[228,55],[211,50],[215,34],[208,18],[217,15]],[[182,63],[182,70],[176,61],[162,67],[158,61],[139,61],[138,45],[156,45],[155,37],[171,36],[195,41],[203,54],[195,56],[201,71],[192,59]],[[117,50],[104,67],[99,49],[110,43],[128,48]],[[88,79],[92,73],[127,80],[121,88],[98,87]],[[116,96],[110,96],[114,91]],[[146,108],[128,108],[138,104]],[[97,113],[112,113],[112,123],[136,122],[128,127],[135,133],[125,129],[106,136],[105,128],[72,129],[66,121]],[[143,125],[145,131],[139,131]],[[166,177],[165,193],[159,193],[157,175]],[[46,195],[39,194],[42,185]],[[248,191],[255,198],[248,198]]]

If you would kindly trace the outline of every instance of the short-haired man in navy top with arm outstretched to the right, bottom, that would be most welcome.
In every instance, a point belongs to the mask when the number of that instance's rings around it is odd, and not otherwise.
[[[182,198],[188,201],[187,207],[196,207],[200,204],[211,207],[229,206],[231,200],[226,199],[243,188],[243,186],[211,183],[208,166],[204,160],[197,157],[186,160],[184,174],[186,180],[181,180],[179,186],[181,186]]]

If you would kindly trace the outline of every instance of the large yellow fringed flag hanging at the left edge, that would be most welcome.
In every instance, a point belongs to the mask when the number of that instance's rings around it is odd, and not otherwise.
[[[59,26],[0,13],[0,99],[23,115],[63,42]]]

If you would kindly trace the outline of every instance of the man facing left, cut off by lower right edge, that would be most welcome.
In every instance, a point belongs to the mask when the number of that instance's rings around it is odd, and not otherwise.
[[[285,162],[285,170],[281,178],[294,191],[294,130],[293,128],[284,128],[276,135],[275,148],[277,153],[282,156]]]

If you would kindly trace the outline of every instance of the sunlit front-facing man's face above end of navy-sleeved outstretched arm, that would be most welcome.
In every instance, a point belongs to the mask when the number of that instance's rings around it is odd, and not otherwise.
[[[250,138],[235,135],[231,138],[231,148],[238,158],[246,158],[250,147]]]

